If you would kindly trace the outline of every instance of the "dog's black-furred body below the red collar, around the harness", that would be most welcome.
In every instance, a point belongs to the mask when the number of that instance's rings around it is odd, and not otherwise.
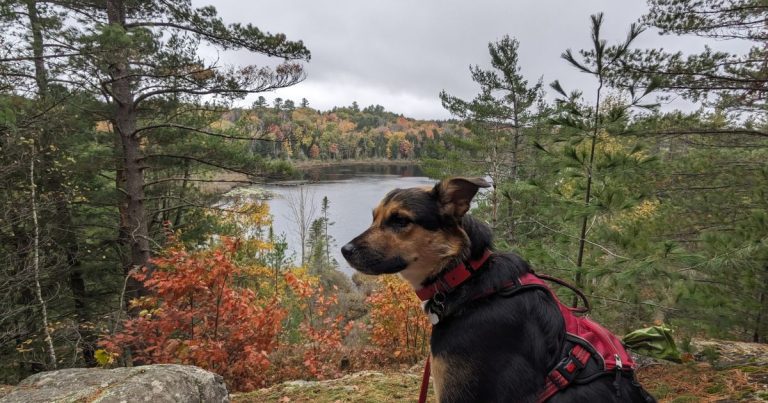
[[[514,254],[494,254],[476,278],[458,289],[451,311],[432,330],[435,386],[441,402],[536,402],[549,371],[561,360],[565,323],[544,290],[474,299],[499,289],[529,267]],[[573,384],[550,402],[648,402],[631,374],[609,373]],[[618,389],[617,389],[618,387]]]

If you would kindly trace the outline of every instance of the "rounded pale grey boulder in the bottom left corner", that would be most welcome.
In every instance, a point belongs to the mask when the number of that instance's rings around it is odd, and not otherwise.
[[[71,368],[23,380],[0,402],[229,402],[224,379],[190,365]]]

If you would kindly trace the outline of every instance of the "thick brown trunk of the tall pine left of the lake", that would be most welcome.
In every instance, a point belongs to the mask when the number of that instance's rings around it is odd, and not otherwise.
[[[110,24],[125,26],[125,5],[122,0],[107,0],[107,17]],[[122,185],[120,203],[119,239],[129,253],[124,253],[123,272],[147,267],[149,263],[149,228],[144,208],[144,156],[140,138],[136,134],[137,111],[134,90],[130,81],[128,57],[124,52],[111,53],[109,88],[114,98],[114,130],[122,158]],[[128,299],[146,294],[143,285],[133,278],[128,281]]]

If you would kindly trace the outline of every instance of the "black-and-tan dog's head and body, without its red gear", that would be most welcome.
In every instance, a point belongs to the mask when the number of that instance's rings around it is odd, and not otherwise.
[[[561,304],[543,287],[495,292],[532,270],[514,253],[489,252],[490,228],[467,214],[479,188],[489,186],[483,179],[452,178],[395,189],[373,210],[370,228],[342,247],[356,270],[397,273],[417,294],[434,294],[426,311],[433,319],[430,359],[438,400],[654,402],[631,371],[618,370],[543,395],[568,343]],[[443,284],[462,264],[472,267],[469,277],[455,287]]]

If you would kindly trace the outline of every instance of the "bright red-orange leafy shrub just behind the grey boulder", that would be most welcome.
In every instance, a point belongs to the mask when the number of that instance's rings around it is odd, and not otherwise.
[[[143,363],[192,364],[222,375],[234,390],[265,383],[269,355],[285,311],[276,299],[259,301],[238,288],[241,270],[233,263],[239,243],[224,239],[211,251],[176,246],[154,259],[154,273],[135,275],[155,294],[131,301],[139,314],[121,332],[104,340],[106,351],[126,347]]]

